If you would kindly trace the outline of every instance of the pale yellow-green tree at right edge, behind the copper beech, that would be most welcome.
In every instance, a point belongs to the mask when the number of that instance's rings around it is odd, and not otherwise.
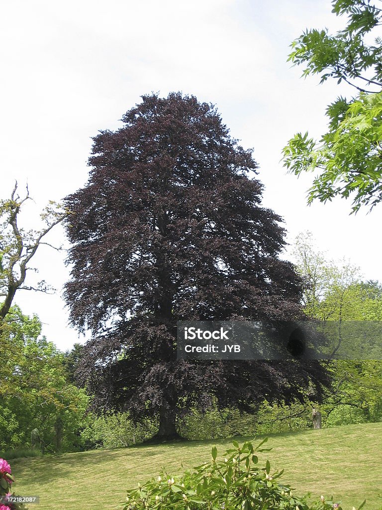
[[[314,246],[311,233],[297,236],[297,272],[303,277],[305,313],[325,321],[381,321],[382,285],[362,282],[358,268],[336,264]],[[320,410],[324,422],[339,425],[382,419],[382,360],[380,346],[370,352],[375,360],[333,360],[326,366],[332,387]]]

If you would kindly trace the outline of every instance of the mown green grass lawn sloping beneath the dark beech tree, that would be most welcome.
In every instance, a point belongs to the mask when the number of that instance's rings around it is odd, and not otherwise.
[[[237,439],[237,438],[236,438]],[[39,495],[32,510],[115,510],[125,490],[152,476],[161,467],[176,476],[183,469],[210,460],[211,446],[218,456],[230,440],[180,442],[115,450],[93,450],[52,457],[11,461],[15,490]],[[333,495],[351,510],[366,498],[365,510],[379,510],[382,499],[382,423],[347,425],[270,435],[272,469],[284,469],[283,480],[296,494]],[[184,468],[180,466],[183,463]]]

